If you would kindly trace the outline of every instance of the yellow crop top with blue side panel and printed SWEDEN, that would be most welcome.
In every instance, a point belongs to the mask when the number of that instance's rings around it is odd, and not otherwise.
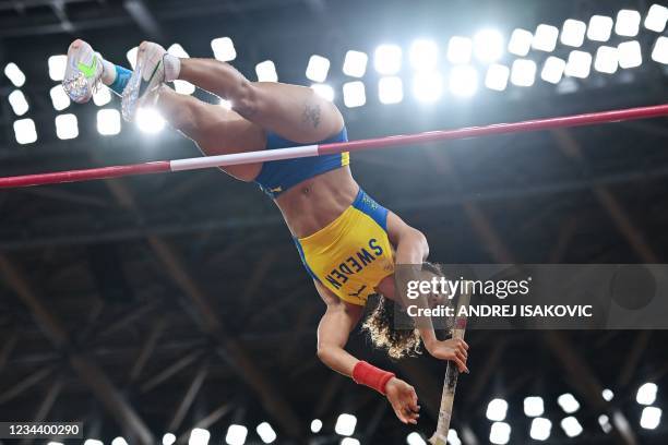
[[[361,189],[334,221],[295,242],[311,277],[353,304],[365,305],[375,286],[394,273],[387,209]]]

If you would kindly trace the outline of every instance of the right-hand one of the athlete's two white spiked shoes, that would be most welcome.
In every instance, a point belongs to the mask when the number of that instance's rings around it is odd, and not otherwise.
[[[159,86],[165,81],[163,58],[166,53],[165,48],[158,44],[144,41],[140,45],[134,72],[123,89],[122,115],[127,121],[134,120],[139,108],[155,101]]]

